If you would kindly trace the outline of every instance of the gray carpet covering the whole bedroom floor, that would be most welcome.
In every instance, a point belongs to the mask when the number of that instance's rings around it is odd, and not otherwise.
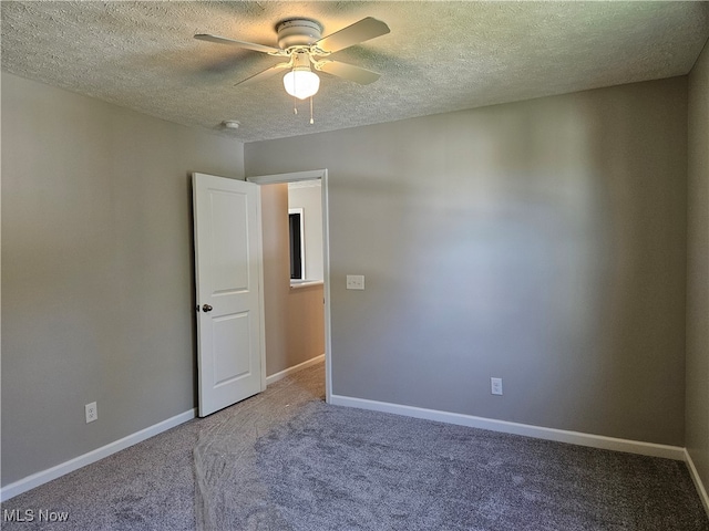
[[[328,406],[322,365],[21,494],[31,530],[709,531],[682,462]],[[38,511],[69,521],[37,521]]]

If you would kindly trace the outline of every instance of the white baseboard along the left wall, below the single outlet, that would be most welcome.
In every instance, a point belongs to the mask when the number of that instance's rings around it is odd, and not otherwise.
[[[86,465],[91,465],[104,457],[109,457],[116,451],[121,451],[130,446],[136,445],[145,439],[148,439],[157,434],[168,430],[169,428],[174,428],[187,420],[195,418],[197,414],[196,409],[189,409],[185,413],[181,413],[179,415],[175,415],[162,423],[157,423],[153,426],[148,426],[145,429],[141,429],[135,434],[129,435],[127,437],[123,437],[122,439],[110,442],[101,448],[96,448],[83,456],[75,457],[70,459],[69,461],[56,465],[55,467],[49,468],[47,470],[42,470],[41,472],[33,473],[32,476],[28,476],[27,478],[20,479],[14,483],[10,483],[0,489],[0,501],[9,500],[10,498],[14,498],[22,492],[27,492],[40,485],[44,485],[53,479],[60,478],[69,472],[73,472],[81,467],[85,467]]]

